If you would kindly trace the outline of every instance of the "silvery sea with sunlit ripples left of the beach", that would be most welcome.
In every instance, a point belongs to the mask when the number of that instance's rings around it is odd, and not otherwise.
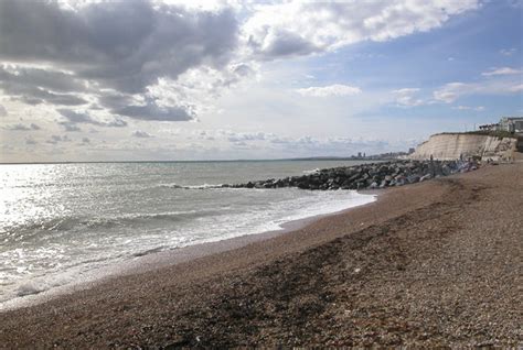
[[[0,165],[0,309],[147,254],[279,230],[375,200],[354,190],[222,188],[357,161]]]

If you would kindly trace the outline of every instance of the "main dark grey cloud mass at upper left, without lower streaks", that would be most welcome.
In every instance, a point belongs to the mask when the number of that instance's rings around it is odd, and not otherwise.
[[[81,78],[140,92],[159,76],[175,78],[203,61],[222,65],[236,45],[231,11],[189,12],[149,1],[71,4],[6,0],[2,52],[9,61],[60,63]],[[32,13],[32,15],[20,15]]]

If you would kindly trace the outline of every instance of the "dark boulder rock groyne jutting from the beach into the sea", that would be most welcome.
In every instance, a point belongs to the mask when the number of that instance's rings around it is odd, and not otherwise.
[[[232,188],[298,187],[319,190],[373,189],[419,183],[476,168],[478,164],[468,161],[393,161],[324,168],[301,176],[222,186]]]

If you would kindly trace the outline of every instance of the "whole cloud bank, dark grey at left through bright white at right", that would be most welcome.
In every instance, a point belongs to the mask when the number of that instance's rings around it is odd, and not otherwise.
[[[214,112],[211,99],[257,76],[263,62],[426,32],[478,7],[477,0],[4,0],[0,90],[56,110],[70,106],[105,117],[192,121]]]

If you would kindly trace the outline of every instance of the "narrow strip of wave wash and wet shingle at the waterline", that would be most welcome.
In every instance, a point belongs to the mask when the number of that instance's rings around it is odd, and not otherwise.
[[[204,258],[212,254],[235,250],[255,243],[258,241],[271,239],[280,234],[299,230],[308,225],[325,217],[344,214],[353,208],[369,206],[378,200],[378,195],[384,190],[364,189],[357,190],[357,194],[374,196],[374,199],[363,205],[355,205],[342,210],[328,214],[319,214],[301,219],[293,219],[280,225],[280,229],[262,231],[258,233],[248,233],[220,240],[212,240],[185,247],[171,248],[161,251],[145,252],[139,255],[131,255],[125,261],[114,261],[107,265],[94,269],[85,273],[85,277],[81,281],[72,281],[62,285],[52,286],[45,291],[18,296],[0,303],[0,315],[9,310],[18,308],[36,306],[47,303],[61,296],[72,294],[79,291],[94,288],[97,285],[118,278],[119,276],[128,276],[134,274],[152,272],[158,269],[173,266],[180,263],[188,263],[192,260]],[[30,282],[28,282],[30,283]]]

